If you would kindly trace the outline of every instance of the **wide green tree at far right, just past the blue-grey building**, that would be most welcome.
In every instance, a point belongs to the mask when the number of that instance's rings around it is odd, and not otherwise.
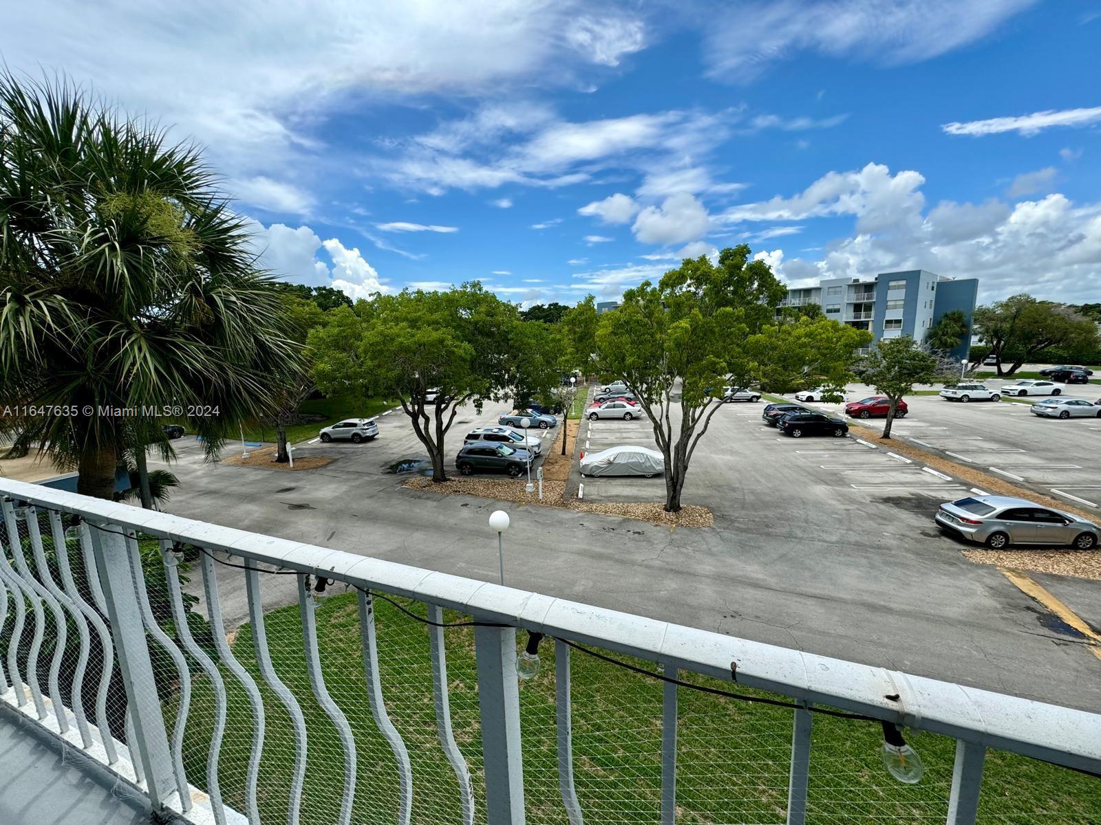
[[[1013,375],[1021,365],[1053,348],[1087,350],[1098,344],[1097,324],[1062,304],[1013,295],[974,310],[974,327],[998,358],[998,374]],[[1010,363],[1003,370],[1003,363]]]

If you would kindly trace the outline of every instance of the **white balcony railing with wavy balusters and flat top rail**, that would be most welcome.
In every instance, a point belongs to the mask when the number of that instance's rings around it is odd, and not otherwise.
[[[1101,771],[1101,715],[31,484],[0,494],[0,711],[190,822],[802,825],[861,821],[846,805],[866,801],[876,821],[972,823],[988,748]],[[205,610],[182,587],[187,549]],[[348,595],[319,597],[325,581]],[[219,587],[247,630],[226,627]],[[526,683],[545,694],[517,686],[517,629],[528,650],[547,637],[554,668]],[[579,681],[571,654],[606,670]],[[609,673],[633,681],[601,702]],[[879,741],[881,722],[956,740],[934,802],[892,815],[909,785],[885,773],[822,801],[866,766],[816,762],[820,737]]]

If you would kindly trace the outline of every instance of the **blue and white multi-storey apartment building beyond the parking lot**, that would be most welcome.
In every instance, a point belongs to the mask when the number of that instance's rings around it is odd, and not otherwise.
[[[909,336],[923,341],[940,317],[953,309],[967,316],[968,326],[979,293],[978,278],[948,278],[925,270],[883,272],[871,280],[829,278],[818,286],[788,289],[782,307],[817,304],[827,318],[872,332],[881,338]],[[970,337],[952,351],[967,358]]]

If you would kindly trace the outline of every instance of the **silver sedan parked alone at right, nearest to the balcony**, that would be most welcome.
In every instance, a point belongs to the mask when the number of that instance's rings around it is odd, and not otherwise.
[[[1043,507],[1025,498],[968,496],[940,505],[937,527],[964,541],[979,541],[993,550],[1010,544],[1066,546],[1092,550],[1101,530],[1069,513]]]

